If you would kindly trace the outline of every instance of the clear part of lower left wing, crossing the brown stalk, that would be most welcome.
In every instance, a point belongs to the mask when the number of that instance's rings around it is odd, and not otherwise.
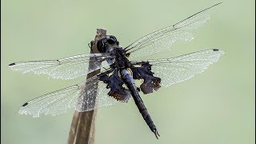
[[[97,86],[97,82],[98,77],[95,75],[78,85],[44,94],[26,102],[18,113],[31,114],[35,118],[39,117],[40,114],[50,114],[52,116],[64,114],[74,107],[81,112],[114,105],[116,100],[106,94],[104,83],[99,82]],[[93,99],[95,100],[93,101]]]

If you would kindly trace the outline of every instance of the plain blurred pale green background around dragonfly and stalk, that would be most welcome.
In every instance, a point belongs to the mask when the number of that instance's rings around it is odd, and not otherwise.
[[[157,140],[133,100],[98,110],[96,143],[254,143],[254,0],[223,0],[191,42],[177,42],[159,57],[220,48],[226,54],[189,81],[142,96]],[[170,26],[217,1],[5,0],[1,22],[1,142],[66,143],[73,110],[57,117],[19,115],[19,107],[41,94],[82,81],[21,74],[11,62],[86,54],[96,29],[106,28],[121,46]]]

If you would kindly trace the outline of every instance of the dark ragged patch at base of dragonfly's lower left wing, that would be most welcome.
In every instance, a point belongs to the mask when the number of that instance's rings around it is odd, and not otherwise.
[[[124,87],[122,78],[118,76],[118,71],[102,73],[99,80],[106,83],[106,88],[110,89],[109,96],[115,98],[120,102],[128,102],[130,98],[130,90]]]

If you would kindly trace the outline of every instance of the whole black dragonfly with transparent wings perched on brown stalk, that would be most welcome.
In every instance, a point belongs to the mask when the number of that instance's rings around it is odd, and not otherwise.
[[[74,108],[78,112],[90,111],[116,102],[134,99],[139,112],[156,138],[160,135],[140,94],[151,94],[161,87],[186,81],[202,73],[224,54],[218,48],[200,50],[173,58],[138,60],[152,54],[171,50],[174,42],[191,41],[190,33],[210,19],[210,11],[221,3],[210,6],[172,25],[146,34],[129,46],[119,46],[114,35],[98,40],[97,54],[79,54],[57,60],[11,63],[10,69],[23,73],[48,74],[63,80],[78,78],[101,70],[74,86],[43,94],[22,105],[19,114],[52,116],[64,114]]]

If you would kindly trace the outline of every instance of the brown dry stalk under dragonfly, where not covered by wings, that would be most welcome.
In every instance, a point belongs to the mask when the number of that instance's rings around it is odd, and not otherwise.
[[[106,35],[106,30],[97,29],[97,34],[94,38],[92,45],[92,53],[99,53],[97,50],[97,42],[100,38]],[[91,62],[89,62],[89,68]],[[100,70],[96,70],[87,74],[86,79],[99,74]],[[96,93],[97,94],[97,93]],[[96,94],[95,97],[96,98]],[[96,120],[97,110],[90,110],[85,112],[74,111],[73,120],[70,126],[70,135],[68,138],[68,144],[94,144],[95,142],[95,120]]]

